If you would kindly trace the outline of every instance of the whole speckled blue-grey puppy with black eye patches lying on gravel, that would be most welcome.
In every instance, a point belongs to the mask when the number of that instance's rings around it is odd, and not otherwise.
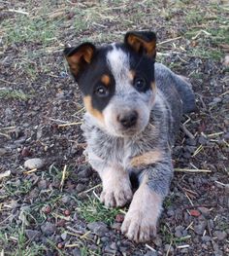
[[[64,51],[86,113],[82,130],[106,206],[130,203],[122,233],[136,242],[156,235],[173,177],[171,148],[182,114],[195,109],[190,85],[155,63],[153,32],[128,32],[121,44],[83,43]],[[138,183],[133,194],[131,181]]]

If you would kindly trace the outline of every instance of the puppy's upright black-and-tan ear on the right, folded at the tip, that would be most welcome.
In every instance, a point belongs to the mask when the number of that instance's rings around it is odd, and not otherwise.
[[[156,35],[151,31],[127,32],[124,43],[138,54],[147,55],[150,58],[156,56]]]

